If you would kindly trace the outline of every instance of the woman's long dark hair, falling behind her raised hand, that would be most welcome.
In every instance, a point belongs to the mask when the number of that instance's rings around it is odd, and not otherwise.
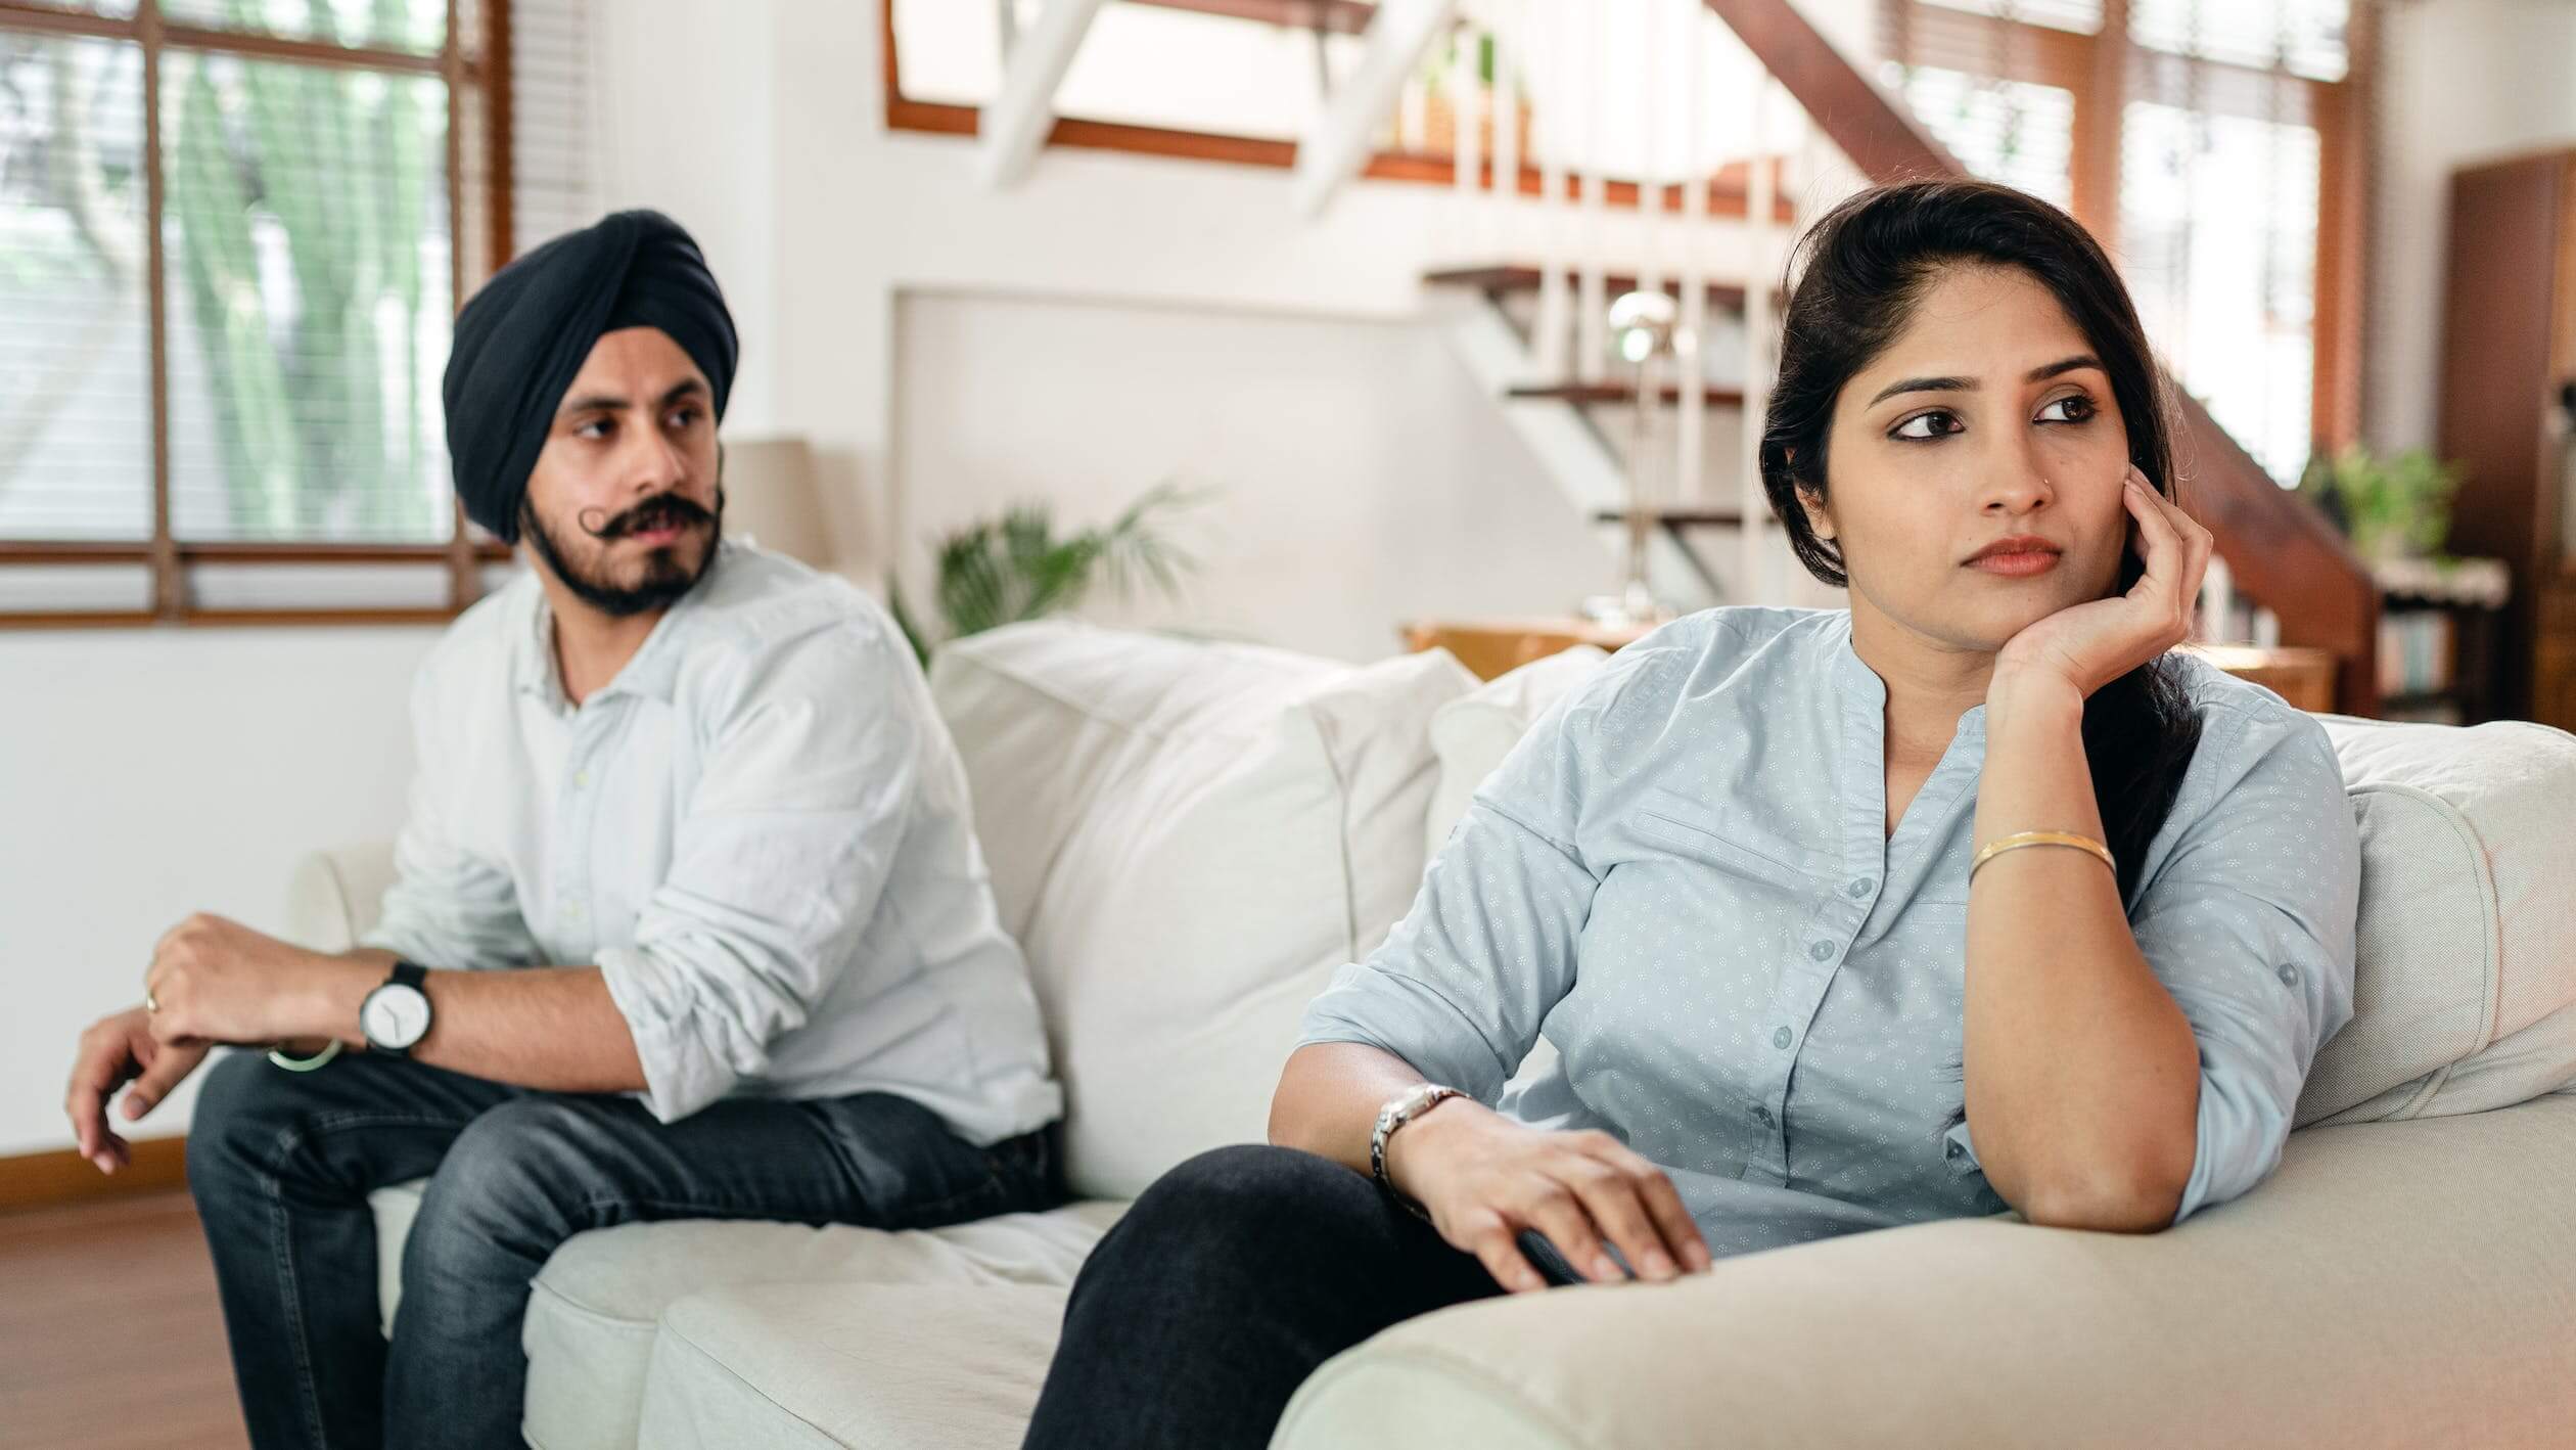
[[[1826,435],[1834,399],[1914,317],[1953,265],[2017,268],[2035,278],[2092,343],[2128,425],[2128,461],[2174,497],[2172,412],[2138,309],[2092,234],[2056,206],[1984,180],[1914,180],[1862,191],[1824,214],[1790,252],[1788,314],[1780,322],[1780,379],[1762,420],[1762,492],[1788,528],[1806,572],[1847,587],[1842,549],[1819,538],[1803,489],[1826,492]],[[2146,564],[2125,551],[2120,590]],[[2084,757],[2120,899],[2138,886],[2146,845],[2164,829],[2182,775],[2200,747],[2200,716],[2164,657],[2084,701]]]

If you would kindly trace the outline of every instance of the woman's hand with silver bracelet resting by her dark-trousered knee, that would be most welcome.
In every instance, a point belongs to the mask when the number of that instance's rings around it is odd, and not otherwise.
[[[1386,1177],[1512,1293],[1548,1288],[1520,1252],[1522,1229],[1538,1229],[1597,1283],[1625,1277],[1602,1239],[1646,1280],[1710,1265],[1664,1169],[1610,1133],[1551,1133],[1450,1097],[1386,1141]]]

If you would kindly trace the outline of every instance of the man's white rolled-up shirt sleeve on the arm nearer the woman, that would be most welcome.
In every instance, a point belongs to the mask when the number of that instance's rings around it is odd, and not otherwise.
[[[925,708],[876,631],[765,654],[714,719],[670,873],[598,953],[670,1123],[768,1066],[850,966],[894,871]]]

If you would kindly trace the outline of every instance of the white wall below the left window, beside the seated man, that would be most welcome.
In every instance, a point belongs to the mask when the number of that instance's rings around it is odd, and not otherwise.
[[[0,1154],[70,1144],[72,1038],[142,999],[180,917],[273,932],[301,852],[402,822],[404,698],[433,639],[0,634]],[[134,1131],[185,1113],[178,1097]]]

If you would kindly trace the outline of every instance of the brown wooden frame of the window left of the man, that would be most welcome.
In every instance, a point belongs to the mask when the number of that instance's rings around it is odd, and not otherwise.
[[[142,610],[10,610],[0,628],[116,628],[116,626],[337,626],[337,623],[446,623],[482,595],[484,564],[510,559],[510,546],[466,528],[461,507],[451,507],[448,538],[440,543],[330,543],[330,541],[188,541],[170,531],[170,355],[167,355],[167,268],[162,258],[162,106],[160,70],[167,49],[232,54],[268,62],[368,70],[397,75],[435,75],[448,95],[448,299],[466,296],[466,252],[474,219],[482,219],[487,258],[510,258],[510,0],[479,0],[479,44],[469,46],[461,0],[446,0],[446,39],[435,54],[381,46],[343,46],[185,26],[162,15],[162,0],[137,0],[134,18],[90,10],[62,10],[31,0],[0,0],[0,28],[75,39],[131,41],[142,49],[144,108],[144,276],[149,309],[149,397],[152,397],[152,536],[142,541],[88,538],[0,538],[0,567],[41,564],[147,564],[152,603]],[[471,98],[471,100],[469,100]],[[482,185],[479,206],[466,206],[466,118],[479,100]],[[446,564],[446,608],[196,608],[188,598],[188,569],[204,564]]]

